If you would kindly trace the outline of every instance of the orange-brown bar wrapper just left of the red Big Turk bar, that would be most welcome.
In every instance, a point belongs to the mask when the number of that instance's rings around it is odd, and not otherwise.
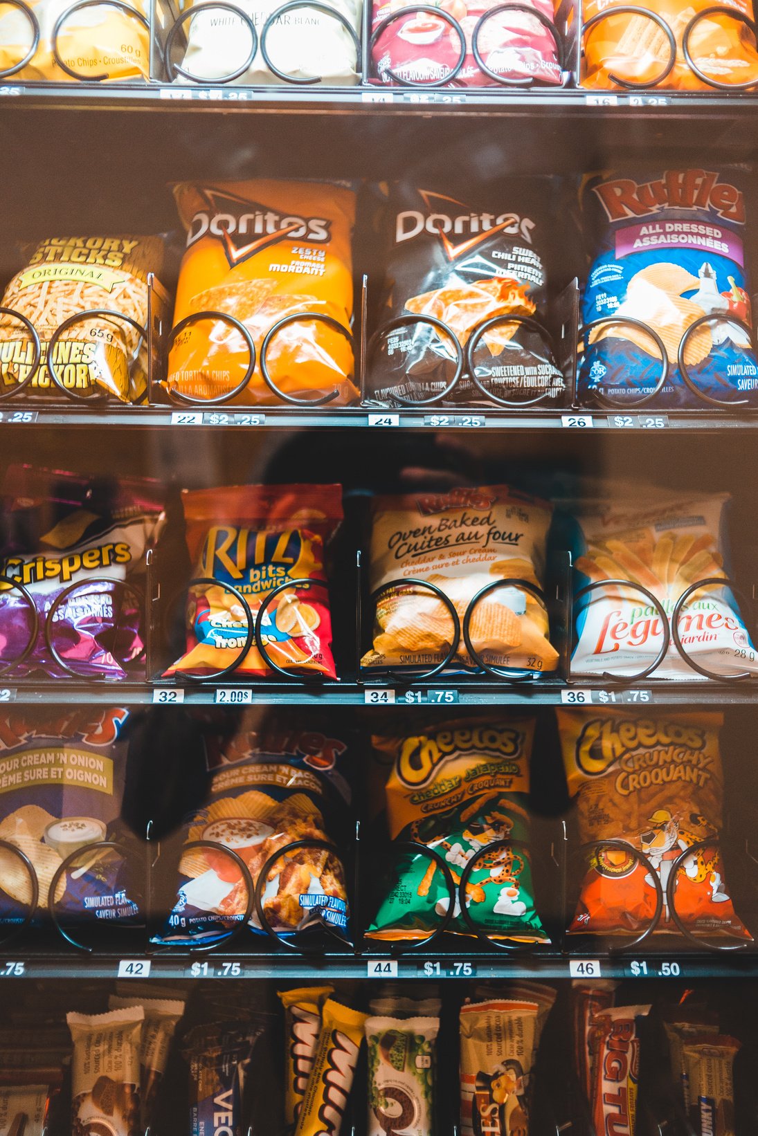
[[[528,1136],[530,1080],[552,1000],[472,1002],[460,1010],[461,1136]]]

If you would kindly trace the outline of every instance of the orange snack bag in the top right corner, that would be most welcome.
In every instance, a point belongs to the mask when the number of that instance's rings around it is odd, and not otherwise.
[[[650,84],[658,90],[708,91],[713,87],[700,78],[684,57],[684,32],[698,12],[711,9],[710,0],[648,0],[645,10],[660,17],[672,30],[676,41],[676,61],[660,82],[670,60],[670,45],[664,30],[640,14],[608,12],[624,0],[583,0],[583,18],[588,24],[593,16],[605,14],[584,33],[584,53],[581,85],[601,90],[619,90],[626,83]],[[743,84],[758,82],[758,52],[750,28],[740,22],[742,12],[753,18],[751,0],[731,0],[727,11],[699,19],[690,33],[689,51],[698,70],[717,83]]]

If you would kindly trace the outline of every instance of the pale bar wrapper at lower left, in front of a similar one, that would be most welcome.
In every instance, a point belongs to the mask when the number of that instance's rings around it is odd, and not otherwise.
[[[140,1136],[142,1006],[68,1013],[73,1136]]]

